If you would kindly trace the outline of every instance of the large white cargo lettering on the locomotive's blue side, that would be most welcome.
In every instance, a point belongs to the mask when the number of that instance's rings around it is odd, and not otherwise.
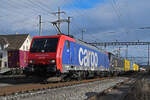
[[[80,48],[79,49],[79,64],[81,66],[98,66],[98,55],[96,52]]]

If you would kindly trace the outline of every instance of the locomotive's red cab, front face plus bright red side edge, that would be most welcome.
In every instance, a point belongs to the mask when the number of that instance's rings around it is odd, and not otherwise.
[[[66,40],[75,41],[66,35],[33,37],[25,74],[56,76],[65,73],[62,54]]]

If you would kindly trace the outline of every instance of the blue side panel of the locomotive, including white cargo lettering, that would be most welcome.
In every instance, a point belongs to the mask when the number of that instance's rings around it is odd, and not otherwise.
[[[62,64],[109,68],[109,59],[106,54],[100,51],[93,50],[75,42],[69,42],[68,44],[65,41]]]

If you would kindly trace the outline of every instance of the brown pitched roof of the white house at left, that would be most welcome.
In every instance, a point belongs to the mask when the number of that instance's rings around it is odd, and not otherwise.
[[[19,50],[19,48],[23,45],[28,35],[29,34],[0,35],[0,39],[3,38],[5,39],[5,41],[7,41],[7,43],[9,44],[7,47],[8,50]]]

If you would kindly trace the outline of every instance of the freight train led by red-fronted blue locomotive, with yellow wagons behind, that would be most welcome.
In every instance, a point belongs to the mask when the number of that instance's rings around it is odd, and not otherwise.
[[[87,78],[130,70],[130,61],[67,35],[33,37],[26,75]]]

